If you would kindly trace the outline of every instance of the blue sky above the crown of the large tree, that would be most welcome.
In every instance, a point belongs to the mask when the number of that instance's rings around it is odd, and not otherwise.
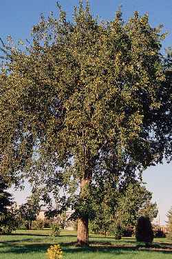
[[[61,0],[61,6],[67,12],[68,17],[72,16],[73,6],[78,0]],[[118,6],[122,5],[122,12],[125,21],[138,10],[140,14],[149,12],[152,25],[164,24],[164,30],[172,30],[172,1],[160,0],[90,0],[92,11],[98,14],[101,19],[113,19]],[[30,35],[32,25],[37,23],[39,15],[43,12],[49,14],[56,12],[55,0],[6,0],[0,1],[0,24],[1,37],[4,39],[11,34],[14,39],[25,39]],[[171,45],[171,37],[164,41],[164,47]]]

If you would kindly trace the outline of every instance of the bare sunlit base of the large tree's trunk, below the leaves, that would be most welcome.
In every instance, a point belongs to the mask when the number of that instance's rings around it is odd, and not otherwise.
[[[88,218],[78,218],[77,245],[88,245]]]

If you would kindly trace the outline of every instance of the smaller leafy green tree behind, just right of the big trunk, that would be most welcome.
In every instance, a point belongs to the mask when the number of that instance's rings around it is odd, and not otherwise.
[[[96,193],[95,218],[90,222],[95,233],[116,234],[120,229],[122,235],[122,229],[133,229],[140,216],[150,216],[151,220],[157,216],[157,205],[151,203],[152,194],[140,182],[135,180],[123,190],[118,188],[108,182],[104,191]]]

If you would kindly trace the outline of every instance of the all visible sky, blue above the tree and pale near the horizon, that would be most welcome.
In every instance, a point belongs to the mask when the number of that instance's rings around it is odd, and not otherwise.
[[[69,19],[72,17],[72,8],[78,0],[61,0],[61,6],[67,12]],[[123,18],[125,21],[135,10],[140,14],[149,12],[151,25],[164,24],[164,31],[169,31],[168,37],[162,43],[164,48],[172,45],[172,0],[90,0],[92,11],[98,14],[100,19],[111,20],[118,6],[122,5]],[[39,21],[41,13],[45,15],[50,11],[56,12],[54,0],[6,0],[0,1],[0,37],[5,40],[10,34],[15,40],[30,37],[32,25]],[[171,164],[158,165],[147,169],[143,174],[147,188],[153,191],[153,200],[156,200],[160,209],[160,221],[164,224],[166,211],[172,206],[172,174]],[[15,196],[19,203],[23,202],[28,195],[28,188]]]

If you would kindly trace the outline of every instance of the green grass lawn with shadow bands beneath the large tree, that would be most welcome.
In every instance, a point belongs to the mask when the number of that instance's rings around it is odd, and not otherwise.
[[[153,250],[136,247],[141,245],[134,238],[114,240],[111,237],[90,236],[90,247],[75,247],[75,231],[62,231],[61,236],[53,238],[48,230],[16,231],[9,236],[0,236],[0,259],[44,259],[46,250],[52,244],[60,244],[63,258],[67,259],[170,259],[172,242],[166,238],[155,238]],[[165,249],[166,248],[166,251]],[[171,250],[170,250],[171,249]]]

